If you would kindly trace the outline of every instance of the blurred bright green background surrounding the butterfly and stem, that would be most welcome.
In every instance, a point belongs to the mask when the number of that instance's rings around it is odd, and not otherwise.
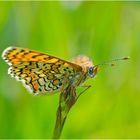
[[[62,138],[140,138],[139,2],[0,2],[0,54],[8,46],[104,66],[69,112]],[[28,94],[0,58],[0,138],[51,138],[59,93]]]

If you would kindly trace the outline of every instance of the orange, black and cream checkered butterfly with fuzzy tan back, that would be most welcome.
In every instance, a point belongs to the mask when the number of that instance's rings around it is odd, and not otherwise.
[[[8,47],[2,58],[10,66],[8,74],[34,95],[63,91],[68,86],[76,88],[98,71],[98,65],[94,66],[87,56],[65,61],[26,48]]]

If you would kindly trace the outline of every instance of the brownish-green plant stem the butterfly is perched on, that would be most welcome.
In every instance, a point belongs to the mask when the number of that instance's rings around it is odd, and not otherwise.
[[[64,127],[68,112],[77,101],[75,87],[69,86],[60,94],[59,106],[56,113],[56,122],[53,132],[53,139],[59,139]]]

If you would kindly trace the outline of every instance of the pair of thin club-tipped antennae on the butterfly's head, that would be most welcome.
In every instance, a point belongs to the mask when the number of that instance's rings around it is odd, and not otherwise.
[[[110,61],[104,61],[103,63],[101,64],[97,64],[95,66],[101,66],[101,65],[110,65],[110,66],[114,66],[115,64],[113,62],[116,62],[116,61],[122,61],[122,60],[128,60],[130,59],[130,57],[123,57],[123,58],[117,58],[117,59],[113,59],[113,60],[110,60]]]

